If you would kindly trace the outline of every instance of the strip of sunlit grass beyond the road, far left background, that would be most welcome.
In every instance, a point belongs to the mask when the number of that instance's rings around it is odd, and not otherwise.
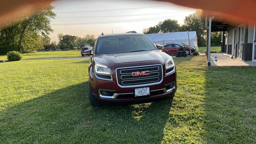
[[[22,54],[22,59],[30,58],[64,58],[81,56],[80,50],[52,51],[52,52],[35,52]],[[0,60],[7,60],[6,56],[0,56]]]

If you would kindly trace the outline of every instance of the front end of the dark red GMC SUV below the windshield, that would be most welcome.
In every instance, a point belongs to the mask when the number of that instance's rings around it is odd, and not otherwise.
[[[136,62],[141,53],[134,53],[130,55],[130,60],[134,62],[128,61],[120,64],[110,60],[112,63],[110,66],[106,64],[108,62],[102,62],[102,60],[115,57],[122,59],[123,55],[95,56],[95,61],[89,68],[89,75],[92,94],[97,99],[97,102],[136,104],[152,102],[168,96],[172,97],[177,88],[176,68],[172,58],[167,54],[161,53],[153,51],[145,55],[165,55],[165,61],[157,60],[156,58],[154,62],[152,60],[144,62],[139,60],[139,62]],[[148,90],[148,93],[144,94],[145,96],[143,94],[136,95],[136,90],[143,89]]]

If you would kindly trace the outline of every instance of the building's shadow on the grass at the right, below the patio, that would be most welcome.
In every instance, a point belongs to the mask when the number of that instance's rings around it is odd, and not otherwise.
[[[206,70],[207,143],[256,143],[256,68]]]

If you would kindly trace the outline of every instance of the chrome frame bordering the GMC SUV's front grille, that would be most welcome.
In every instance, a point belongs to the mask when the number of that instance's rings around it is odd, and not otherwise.
[[[152,64],[152,65],[144,65],[144,66],[129,66],[129,67],[121,67],[121,68],[138,68],[138,67],[146,67],[146,66],[161,66],[162,68],[162,80],[160,80],[159,82],[154,82],[154,83],[149,83],[149,84],[137,84],[137,85],[131,85],[131,86],[121,86],[120,84],[118,84],[118,77],[117,77],[117,70],[120,68],[116,68],[116,81],[118,86],[120,86],[121,88],[131,88],[131,87],[138,87],[138,86],[151,86],[151,85],[155,85],[155,84],[161,84],[164,78],[164,72],[163,72],[163,66],[162,64]]]

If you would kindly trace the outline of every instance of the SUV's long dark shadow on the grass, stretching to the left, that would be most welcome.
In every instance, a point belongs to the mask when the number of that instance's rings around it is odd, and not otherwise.
[[[172,99],[92,108],[88,82],[0,111],[4,143],[160,143]]]

